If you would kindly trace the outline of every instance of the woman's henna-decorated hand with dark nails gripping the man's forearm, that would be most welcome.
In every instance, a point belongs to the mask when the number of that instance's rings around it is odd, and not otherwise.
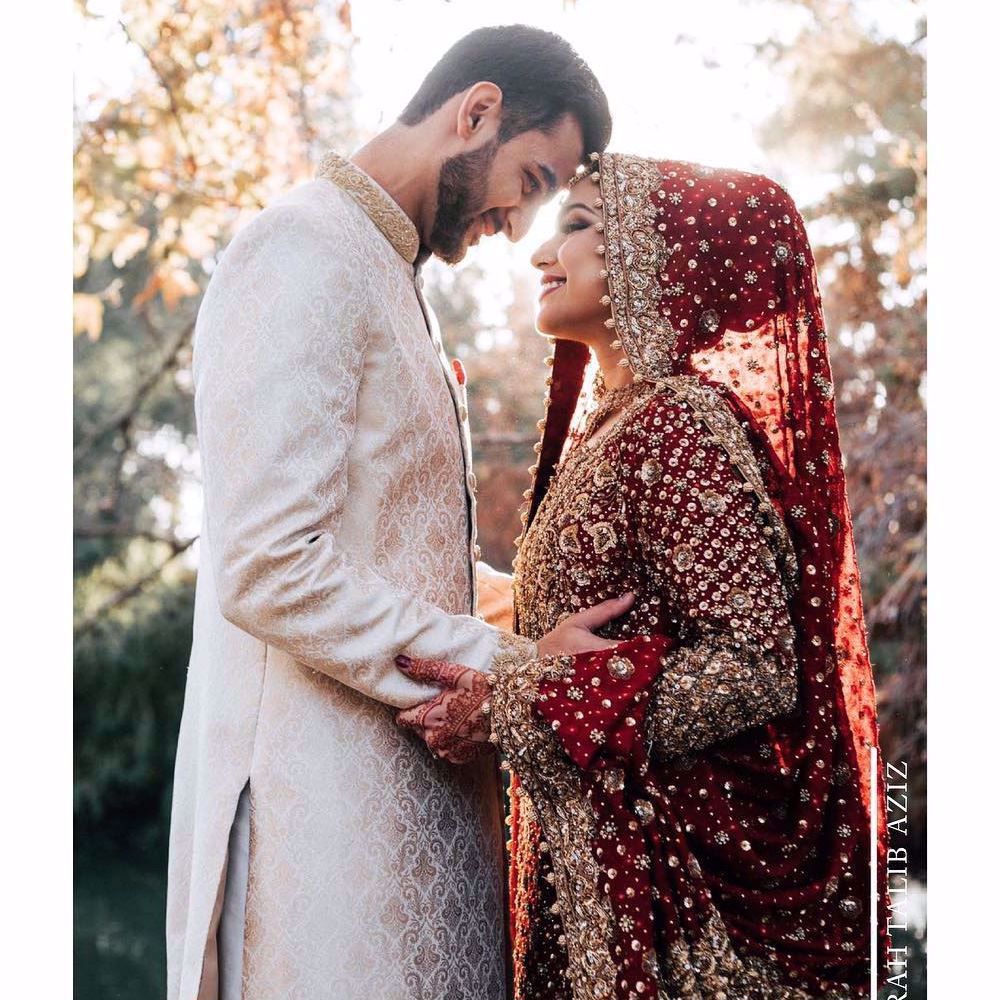
[[[400,712],[396,722],[412,729],[438,757],[464,764],[493,752],[489,742],[490,686],[486,677],[457,663],[397,656],[396,666],[415,681],[439,684],[436,698]]]

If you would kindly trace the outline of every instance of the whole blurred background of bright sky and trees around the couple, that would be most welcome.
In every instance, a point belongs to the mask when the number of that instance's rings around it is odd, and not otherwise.
[[[925,996],[926,21],[913,0],[77,0],[76,996],[164,994],[166,840],[201,493],[191,334],[233,233],[389,124],[475,27],[559,32],[612,148],[760,170],[817,260],[885,756],[910,768],[909,990]],[[469,373],[484,558],[509,570],[541,415],[532,247],[427,266]],[[898,942],[897,942],[898,943]]]

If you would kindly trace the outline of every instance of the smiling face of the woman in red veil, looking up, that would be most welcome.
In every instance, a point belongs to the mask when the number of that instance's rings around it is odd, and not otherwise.
[[[599,197],[600,190],[589,178],[575,184],[559,213],[555,235],[531,256],[542,274],[538,331],[591,346],[612,336],[604,325],[611,309],[601,303],[608,282],[601,277],[604,256],[597,252],[603,242],[596,228],[603,216],[594,207]]]

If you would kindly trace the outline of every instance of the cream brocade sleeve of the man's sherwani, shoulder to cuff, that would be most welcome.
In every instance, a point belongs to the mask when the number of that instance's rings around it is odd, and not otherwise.
[[[366,252],[348,222],[301,203],[246,227],[199,315],[195,406],[223,615],[403,707],[435,693],[396,669],[404,649],[488,671],[533,645],[446,614],[338,544],[369,347]]]

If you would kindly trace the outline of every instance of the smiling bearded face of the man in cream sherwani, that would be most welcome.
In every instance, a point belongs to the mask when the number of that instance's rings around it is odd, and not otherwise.
[[[551,134],[523,132],[503,145],[493,136],[450,157],[441,166],[428,247],[457,264],[483,236],[502,232],[516,242],[582,158],[583,133],[569,115]]]

